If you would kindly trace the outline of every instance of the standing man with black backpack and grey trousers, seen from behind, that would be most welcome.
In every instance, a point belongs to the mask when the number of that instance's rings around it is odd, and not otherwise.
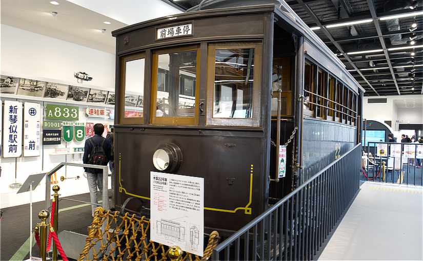
[[[85,141],[84,148],[84,164],[107,166],[111,159],[111,143],[110,140],[102,137],[104,125],[97,123],[94,125],[94,136]],[[90,189],[91,203],[97,202],[97,187],[100,193],[103,192],[103,170],[98,168],[85,168],[87,173],[88,188]],[[107,189],[107,188],[106,188]],[[91,205],[91,212],[94,216],[94,210],[97,206]]]

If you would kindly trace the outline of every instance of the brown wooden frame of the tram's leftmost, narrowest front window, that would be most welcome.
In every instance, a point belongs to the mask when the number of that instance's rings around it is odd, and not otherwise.
[[[144,106],[143,106],[143,117],[134,117],[134,118],[126,118],[125,117],[125,78],[126,78],[126,63],[128,61],[134,61],[144,59],[144,74],[146,72],[145,68],[147,66],[147,59],[146,53],[137,53],[124,56],[120,58],[120,88],[119,88],[119,124],[144,124]],[[144,77],[145,79],[145,77]],[[145,86],[145,81],[143,82],[143,86]],[[143,87],[143,99],[145,97],[144,94],[145,88]],[[138,95],[139,96],[139,95]],[[145,104],[145,101],[143,102]]]

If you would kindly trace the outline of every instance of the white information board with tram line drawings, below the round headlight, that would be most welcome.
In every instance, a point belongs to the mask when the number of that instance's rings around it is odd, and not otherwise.
[[[203,256],[204,179],[150,172],[151,240]]]

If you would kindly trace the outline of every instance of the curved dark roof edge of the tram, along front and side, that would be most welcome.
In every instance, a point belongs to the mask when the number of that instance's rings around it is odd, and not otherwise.
[[[339,60],[338,57],[327,47],[327,45],[304,23],[304,21],[292,10],[292,8],[285,2],[280,1],[281,6],[277,7],[275,4],[264,4],[264,5],[251,5],[251,6],[241,6],[241,7],[228,7],[228,8],[216,8],[216,9],[206,9],[206,10],[198,10],[198,11],[190,11],[186,13],[168,15],[164,17],[159,17],[147,21],[143,21],[141,23],[137,23],[134,25],[130,25],[124,28],[120,28],[117,30],[112,31],[112,36],[116,37],[128,32],[132,32],[139,29],[144,29],[152,26],[163,25],[167,23],[177,23],[178,21],[186,21],[186,20],[195,20],[197,18],[205,18],[205,17],[212,17],[212,16],[225,16],[228,14],[233,15],[236,13],[237,15],[242,14],[253,14],[253,13],[267,13],[273,12],[275,15],[278,16],[281,20],[281,23],[284,23],[285,26],[291,28],[298,34],[301,34],[306,39],[306,50],[307,47],[310,48],[310,51],[320,52],[320,55],[323,55],[326,59],[328,59],[335,67],[326,68],[331,70],[333,74],[341,78],[345,83],[347,83],[352,90],[358,92],[361,90],[365,92],[362,86],[356,81],[356,79],[347,71],[345,68],[345,64]],[[284,10],[283,10],[284,9]],[[339,72],[333,72],[333,70],[339,69],[342,75],[339,75]]]

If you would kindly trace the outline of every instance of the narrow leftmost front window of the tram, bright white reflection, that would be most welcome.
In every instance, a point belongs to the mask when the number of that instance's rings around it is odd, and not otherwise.
[[[144,69],[144,54],[123,58],[123,76],[120,84],[122,113],[119,119],[121,123],[143,123],[140,118],[143,117],[144,107]]]

